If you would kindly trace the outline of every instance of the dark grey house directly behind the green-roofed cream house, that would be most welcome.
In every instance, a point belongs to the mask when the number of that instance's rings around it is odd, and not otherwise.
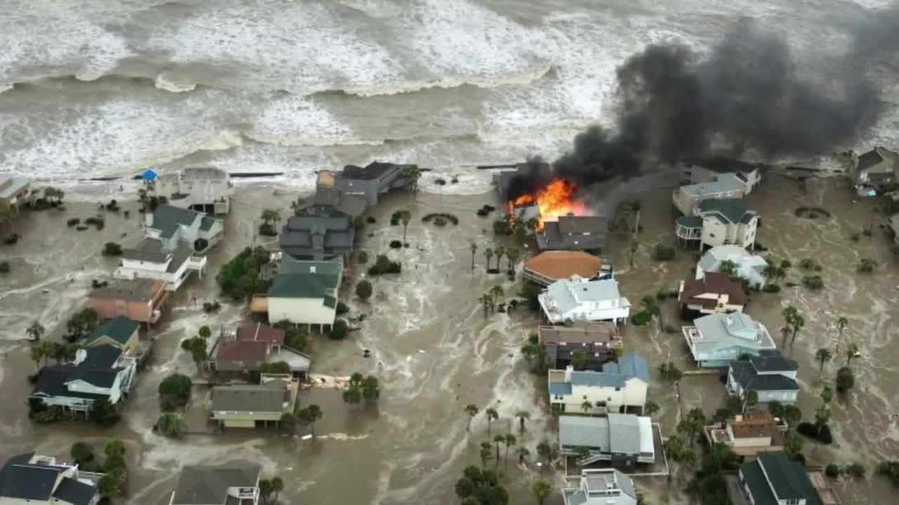
[[[289,217],[278,242],[286,255],[323,261],[348,258],[355,239],[350,217],[331,208],[316,215]]]

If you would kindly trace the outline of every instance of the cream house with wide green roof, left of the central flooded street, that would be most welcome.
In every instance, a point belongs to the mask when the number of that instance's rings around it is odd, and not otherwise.
[[[342,274],[340,258],[301,261],[283,254],[269,288],[269,321],[318,324],[319,329],[334,324]]]

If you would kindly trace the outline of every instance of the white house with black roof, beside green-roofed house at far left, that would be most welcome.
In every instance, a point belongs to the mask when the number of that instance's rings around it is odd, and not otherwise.
[[[137,374],[137,360],[111,345],[78,350],[71,363],[40,369],[29,398],[32,408],[60,406],[70,412],[90,412],[93,403],[116,404],[128,395]]]

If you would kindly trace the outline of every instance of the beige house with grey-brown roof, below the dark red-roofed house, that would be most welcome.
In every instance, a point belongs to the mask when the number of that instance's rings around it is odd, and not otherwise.
[[[289,375],[263,374],[258,385],[218,385],[207,403],[209,417],[226,428],[277,426],[294,412],[299,381]]]

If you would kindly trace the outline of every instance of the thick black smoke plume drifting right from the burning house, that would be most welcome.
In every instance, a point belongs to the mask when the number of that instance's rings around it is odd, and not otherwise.
[[[870,70],[899,49],[899,5],[860,24],[845,54],[802,55],[823,68],[811,72],[800,70],[784,40],[747,21],[705,58],[678,45],[649,46],[619,66],[614,127],[588,128],[551,174],[524,171],[506,195],[537,190],[552,176],[590,186],[687,159],[776,160],[851,147],[883,108]]]

